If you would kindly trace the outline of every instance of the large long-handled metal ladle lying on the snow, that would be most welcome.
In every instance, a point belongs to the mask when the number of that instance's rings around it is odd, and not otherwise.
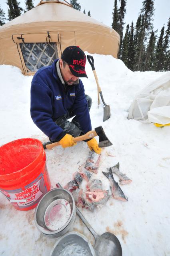
[[[57,183],[56,187],[60,188],[60,183]],[[80,217],[82,222],[86,225],[90,233],[92,233],[92,235],[94,236],[94,239],[96,241],[94,245],[96,256],[122,256],[121,244],[114,234],[106,232],[99,236],[90,226],[88,221],[84,218],[82,213],[79,211],[78,207],[76,207],[76,213],[78,217]]]

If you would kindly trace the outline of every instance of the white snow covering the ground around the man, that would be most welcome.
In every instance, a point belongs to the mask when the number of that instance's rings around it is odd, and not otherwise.
[[[87,53],[86,53],[87,54]],[[128,202],[112,197],[94,213],[81,209],[98,234],[112,232],[120,240],[125,256],[170,255],[170,126],[157,128],[128,120],[128,108],[136,93],[154,81],[163,72],[132,72],[122,61],[112,56],[93,55],[94,65],[106,104],[110,105],[111,118],[103,120],[103,106],[97,106],[97,87],[90,65],[88,79],[83,78],[85,91],[92,97],[90,116],[92,127],[102,125],[112,146],[102,151],[98,174],[104,189],[109,182],[102,174],[106,167],[120,163],[120,171],[132,179],[132,183],[120,186],[128,196]],[[0,145],[18,138],[48,138],[34,125],[30,117],[30,83],[20,69],[0,66]],[[75,147],[56,147],[46,150],[47,167],[52,188],[57,182],[65,185],[72,179],[89,154],[85,142]],[[111,154],[112,156],[108,156]],[[114,175],[116,181],[118,178]],[[85,181],[84,181],[85,185]],[[0,255],[46,256],[50,254],[56,239],[49,239],[37,230],[34,211],[17,211],[0,195]],[[70,231],[83,233],[92,244],[94,239],[78,216]]]

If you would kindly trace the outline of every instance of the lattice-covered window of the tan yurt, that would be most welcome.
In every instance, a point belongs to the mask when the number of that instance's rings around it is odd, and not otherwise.
[[[58,58],[56,43],[20,43],[27,69],[31,72],[52,65]]]

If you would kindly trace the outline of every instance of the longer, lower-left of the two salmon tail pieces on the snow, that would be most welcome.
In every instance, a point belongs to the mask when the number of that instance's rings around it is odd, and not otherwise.
[[[120,201],[128,201],[128,198],[124,195],[122,189],[119,187],[118,183],[114,180],[112,169],[109,168],[109,172],[105,173],[102,172],[110,181],[111,183],[111,190],[112,195],[114,199],[120,200]]]

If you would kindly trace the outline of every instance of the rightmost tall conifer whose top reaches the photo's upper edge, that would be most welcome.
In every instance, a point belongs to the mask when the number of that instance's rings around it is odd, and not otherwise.
[[[144,24],[142,28],[142,37],[140,41],[140,53],[138,59],[138,67],[137,70],[141,69],[143,54],[144,54],[144,41],[147,40],[148,33],[152,30],[152,16],[154,14],[154,0],[144,0],[142,2],[141,14],[144,16]]]

